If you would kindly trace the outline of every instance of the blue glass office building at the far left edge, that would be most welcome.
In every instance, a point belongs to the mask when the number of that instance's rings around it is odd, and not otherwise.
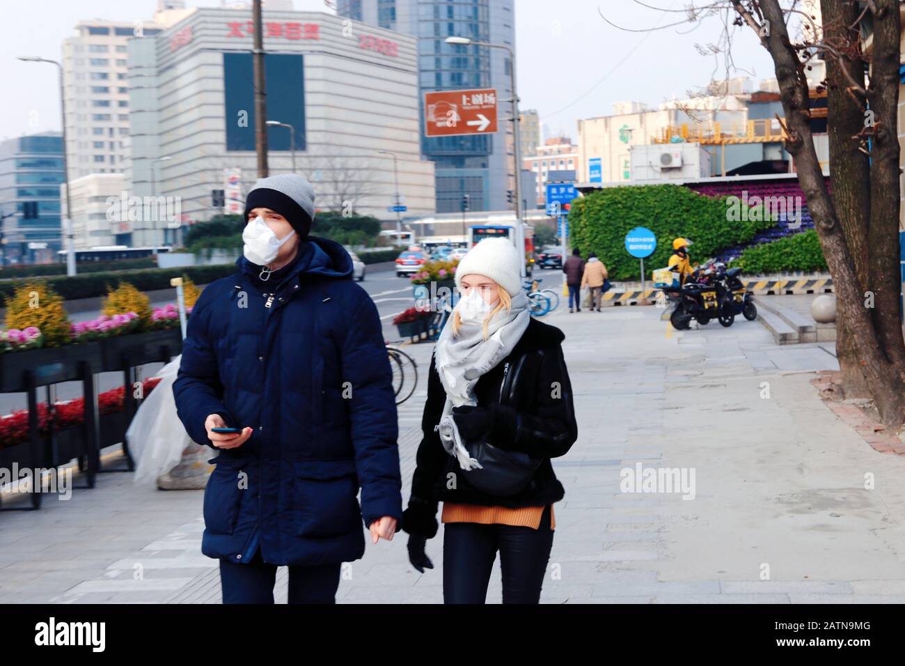
[[[0,264],[48,262],[62,248],[62,133],[0,142]]]

